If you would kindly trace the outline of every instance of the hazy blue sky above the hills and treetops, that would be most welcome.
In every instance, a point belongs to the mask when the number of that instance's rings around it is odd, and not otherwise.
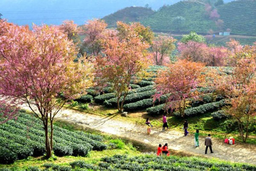
[[[153,10],[180,0],[0,0],[2,18],[19,25],[54,24],[74,20],[81,25],[102,18],[128,6],[145,6]],[[226,0],[227,1],[227,0]]]

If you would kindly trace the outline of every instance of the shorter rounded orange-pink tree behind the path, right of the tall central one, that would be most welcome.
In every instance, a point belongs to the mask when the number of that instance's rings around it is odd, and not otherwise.
[[[184,117],[186,101],[199,98],[198,86],[204,84],[204,64],[179,60],[169,64],[165,70],[160,70],[155,80],[157,93],[154,100],[163,95],[169,95],[166,100],[166,110],[178,110]]]

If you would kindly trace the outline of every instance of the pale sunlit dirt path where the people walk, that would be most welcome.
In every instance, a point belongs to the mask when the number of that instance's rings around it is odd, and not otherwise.
[[[27,108],[26,108],[27,109]],[[182,151],[183,153],[202,155],[204,157],[216,157],[231,162],[246,162],[256,165],[256,145],[235,144],[227,145],[217,139],[212,139],[213,154],[204,155],[204,137],[199,138],[199,147],[194,147],[194,136],[184,136],[183,132],[177,130],[163,131],[161,128],[153,128],[151,135],[146,134],[146,127],[127,123],[114,119],[112,116],[97,116],[76,110],[63,109],[56,118],[99,130],[104,133],[134,139],[146,144],[154,145],[168,143],[169,149]],[[189,130],[188,130],[189,131]]]

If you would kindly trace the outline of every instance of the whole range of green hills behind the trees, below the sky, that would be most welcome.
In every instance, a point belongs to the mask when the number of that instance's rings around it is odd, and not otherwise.
[[[118,20],[140,21],[155,32],[195,31],[207,34],[210,29],[215,33],[230,29],[231,34],[256,35],[256,0],[237,0],[224,4],[216,4],[217,1],[183,0],[164,5],[156,12],[149,8],[129,7],[103,19],[110,27],[115,26]],[[206,10],[207,3],[210,3],[209,11]]]

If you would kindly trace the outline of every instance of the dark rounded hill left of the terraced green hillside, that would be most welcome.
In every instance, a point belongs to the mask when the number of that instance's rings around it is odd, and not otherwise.
[[[152,14],[154,14],[154,11],[150,8],[131,6],[121,9],[113,14],[109,14],[102,19],[108,23],[108,27],[115,27],[116,21],[123,21],[126,23],[137,22]]]

